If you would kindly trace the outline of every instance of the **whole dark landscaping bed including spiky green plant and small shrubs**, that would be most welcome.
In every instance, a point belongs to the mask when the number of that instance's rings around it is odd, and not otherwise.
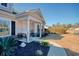
[[[0,55],[1,56],[47,56],[49,51],[48,42],[32,41],[30,43],[22,43],[19,40],[15,40],[15,37],[3,37],[0,38]]]

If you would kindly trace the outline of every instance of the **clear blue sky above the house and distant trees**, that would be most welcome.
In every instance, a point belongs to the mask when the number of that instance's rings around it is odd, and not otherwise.
[[[18,12],[40,8],[46,24],[79,23],[79,4],[64,3],[16,3],[14,9]]]

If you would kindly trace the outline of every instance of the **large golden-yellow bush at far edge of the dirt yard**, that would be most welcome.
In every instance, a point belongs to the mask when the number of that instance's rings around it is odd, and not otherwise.
[[[58,33],[58,34],[66,34],[67,30],[70,28],[68,25],[54,25],[51,28],[49,28],[49,31],[51,33]]]

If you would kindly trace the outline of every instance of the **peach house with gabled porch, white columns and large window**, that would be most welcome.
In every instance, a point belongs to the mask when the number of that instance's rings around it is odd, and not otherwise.
[[[11,3],[0,3],[0,24],[6,28],[6,35],[17,35],[18,33],[27,34],[27,42],[29,42],[31,33],[42,36],[44,32],[45,21],[41,14],[40,9],[33,9],[22,13],[13,14],[13,4]],[[0,33],[2,32],[0,27]],[[8,28],[8,29],[7,29]],[[5,33],[4,31],[4,33]]]

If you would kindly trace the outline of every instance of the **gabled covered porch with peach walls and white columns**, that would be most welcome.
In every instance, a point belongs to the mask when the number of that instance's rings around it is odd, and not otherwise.
[[[18,14],[16,18],[16,35],[18,33],[25,33],[27,35],[27,39],[24,41],[29,43],[42,37],[44,32],[44,23],[39,18],[28,15],[28,13]]]

